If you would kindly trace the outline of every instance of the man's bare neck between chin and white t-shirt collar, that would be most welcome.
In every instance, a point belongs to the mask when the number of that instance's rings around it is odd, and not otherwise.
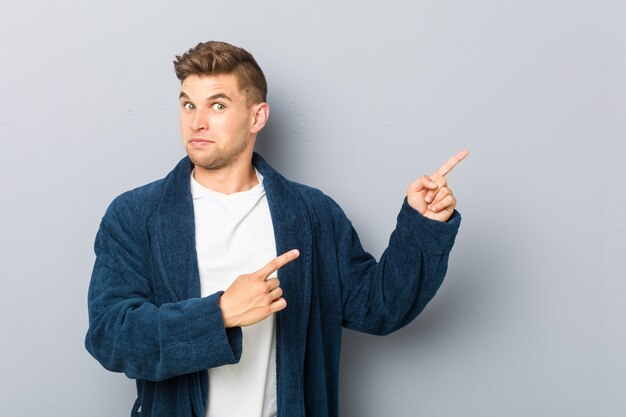
[[[203,187],[222,194],[247,191],[259,183],[252,162],[235,163],[218,170],[204,169],[196,165],[193,177]]]

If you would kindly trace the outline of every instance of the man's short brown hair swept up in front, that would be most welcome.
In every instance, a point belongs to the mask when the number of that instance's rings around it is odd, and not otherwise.
[[[176,77],[234,74],[248,106],[267,100],[267,82],[252,54],[226,42],[199,43],[174,61]]]

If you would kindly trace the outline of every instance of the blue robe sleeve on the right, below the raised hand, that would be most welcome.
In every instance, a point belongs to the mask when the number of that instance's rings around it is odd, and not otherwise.
[[[379,262],[363,250],[334,205],[344,327],[385,335],[411,322],[433,298],[446,274],[461,215],[448,222],[422,216],[406,199]]]

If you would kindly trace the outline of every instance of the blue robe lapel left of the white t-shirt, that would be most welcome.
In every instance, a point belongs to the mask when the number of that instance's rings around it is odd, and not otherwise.
[[[155,253],[172,301],[200,297],[195,221],[189,181],[191,168],[192,164],[186,157],[165,178],[165,189],[156,221]]]

